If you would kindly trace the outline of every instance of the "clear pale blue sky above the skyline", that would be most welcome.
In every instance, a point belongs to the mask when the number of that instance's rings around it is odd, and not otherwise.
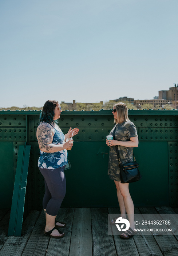
[[[178,84],[178,0],[0,0],[0,107]]]

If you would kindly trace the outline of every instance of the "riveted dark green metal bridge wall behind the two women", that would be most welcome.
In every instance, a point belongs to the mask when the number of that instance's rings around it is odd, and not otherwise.
[[[139,147],[134,148],[134,154],[143,176],[141,181],[129,185],[135,206],[178,207],[178,111],[129,110],[128,113],[139,135]],[[5,182],[9,185],[8,200],[1,197],[1,208],[11,205],[19,146],[25,142],[31,145],[25,206],[28,210],[42,208],[45,188],[37,167],[36,139],[39,114],[40,111],[0,111],[1,195],[7,188]],[[80,129],[68,152],[71,168],[65,171],[67,193],[62,206],[118,207],[114,182],[107,175],[106,135],[113,125],[111,110],[62,112],[59,126],[64,133],[70,127]]]

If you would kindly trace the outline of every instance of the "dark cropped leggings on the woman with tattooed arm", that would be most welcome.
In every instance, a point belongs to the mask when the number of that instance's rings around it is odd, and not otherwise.
[[[66,177],[64,168],[43,169],[40,172],[44,177],[45,194],[43,197],[43,209],[46,209],[47,214],[55,216],[58,214],[64,196],[66,195]]]

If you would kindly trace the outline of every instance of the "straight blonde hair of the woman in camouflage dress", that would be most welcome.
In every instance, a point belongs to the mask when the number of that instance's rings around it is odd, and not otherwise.
[[[114,104],[117,112],[117,118],[114,119],[114,124],[119,123],[122,124],[124,121],[129,120],[128,118],[128,109],[126,104],[123,102],[119,102]]]

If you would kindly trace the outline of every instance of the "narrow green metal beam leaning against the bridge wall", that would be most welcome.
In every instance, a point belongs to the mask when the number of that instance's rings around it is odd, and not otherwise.
[[[19,146],[8,236],[21,236],[31,146]]]

